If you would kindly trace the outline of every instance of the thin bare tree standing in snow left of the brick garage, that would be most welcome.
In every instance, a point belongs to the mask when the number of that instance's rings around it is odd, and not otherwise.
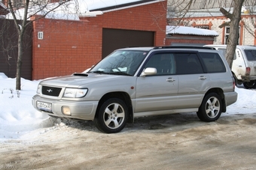
[[[57,9],[58,7],[68,3],[69,1],[59,1],[56,3],[49,3],[50,0],[25,0],[25,1],[8,1],[8,7],[11,16],[14,19],[15,26],[18,32],[18,56],[17,56],[17,73],[16,73],[16,90],[20,90],[21,68],[23,63],[23,37],[26,28],[31,22],[44,18],[48,13]],[[19,3],[17,3],[19,2]],[[21,12],[22,11],[22,12]],[[39,17],[32,19],[32,16],[40,13]],[[20,22],[21,20],[21,22]]]

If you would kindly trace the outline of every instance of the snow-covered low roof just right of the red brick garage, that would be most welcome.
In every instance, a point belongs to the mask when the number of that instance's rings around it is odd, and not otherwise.
[[[213,30],[203,28],[193,28],[187,26],[166,26],[166,35],[168,34],[187,34],[187,35],[201,35],[217,37],[218,33]]]

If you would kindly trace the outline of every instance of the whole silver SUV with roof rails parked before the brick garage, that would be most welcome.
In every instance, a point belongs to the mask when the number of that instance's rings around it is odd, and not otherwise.
[[[197,112],[216,121],[237,99],[220,55],[196,46],[117,49],[87,73],[41,81],[32,104],[50,116],[94,121],[104,133],[148,115]]]

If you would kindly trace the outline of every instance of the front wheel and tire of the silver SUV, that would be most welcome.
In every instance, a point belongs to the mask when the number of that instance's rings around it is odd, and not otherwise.
[[[125,127],[127,118],[128,109],[123,100],[111,98],[100,106],[94,124],[103,133],[118,133]]]

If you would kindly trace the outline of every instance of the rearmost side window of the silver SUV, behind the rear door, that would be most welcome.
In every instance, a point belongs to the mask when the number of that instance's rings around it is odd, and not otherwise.
[[[203,63],[206,65],[206,70],[208,73],[226,72],[226,67],[218,53],[200,52],[200,55],[203,58]]]

